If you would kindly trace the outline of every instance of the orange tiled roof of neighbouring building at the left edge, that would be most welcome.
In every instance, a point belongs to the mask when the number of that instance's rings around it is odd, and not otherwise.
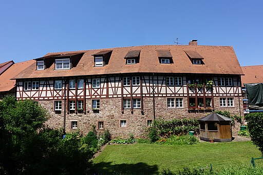
[[[21,71],[27,69],[30,65],[35,66],[35,61],[30,60],[21,63],[15,63],[9,67],[4,73],[0,75],[0,92],[11,90],[15,86],[15,80],[12,79],[15,75]]]

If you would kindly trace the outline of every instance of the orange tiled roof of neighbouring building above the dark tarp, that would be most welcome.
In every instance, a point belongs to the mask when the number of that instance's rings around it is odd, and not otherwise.
[[[248,83],[263,83],[263,65],[242,66],[244,76],[241,76],[242,86]]]

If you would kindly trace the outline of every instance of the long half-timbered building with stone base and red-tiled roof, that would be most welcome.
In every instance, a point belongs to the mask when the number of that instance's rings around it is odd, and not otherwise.
[[[17,100],[50,112],[47,124],[143,136],[155,118],[242,115],[242,70],[232,47],[135,46],[48,53],[14,77]],[[241,105],[240,105],[241,104]]]

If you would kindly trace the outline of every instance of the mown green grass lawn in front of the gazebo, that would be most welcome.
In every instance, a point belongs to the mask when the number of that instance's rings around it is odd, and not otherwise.
[[[96,173],[123,172],[153,174],[163,169],[176,171],[183,167],[223,167],[247,165],[251,158],[261,157],[252,142],[206,143],[196,145],[112,144],[93,160]]]

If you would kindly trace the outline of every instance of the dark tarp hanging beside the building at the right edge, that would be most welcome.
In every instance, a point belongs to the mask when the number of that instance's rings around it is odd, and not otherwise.
[[[249,96],[249,105],[263,105],[263,83],[245,84]]]

